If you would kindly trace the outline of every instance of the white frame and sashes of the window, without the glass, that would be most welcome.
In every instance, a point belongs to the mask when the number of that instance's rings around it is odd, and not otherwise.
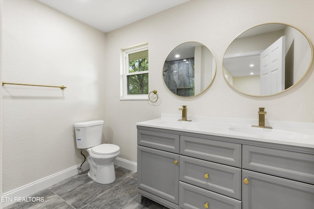
[[[148,50],[148,43],[132,46],[121,50],[121,69],[120,69],[120,100],[148,100],[147,94],[128,94],[128,76],[136,74],[149,75],[149,70],[129,72],[129,54]]]

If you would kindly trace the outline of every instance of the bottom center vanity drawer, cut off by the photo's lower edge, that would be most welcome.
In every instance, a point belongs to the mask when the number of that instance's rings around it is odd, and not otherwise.
[[[241,209],[241,201],[197,186],[180,182],[179,190],[182,209]]]

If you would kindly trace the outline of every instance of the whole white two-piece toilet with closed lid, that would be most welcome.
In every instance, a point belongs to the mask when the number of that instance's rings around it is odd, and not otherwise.
[[[115,144],[102,144],[104,120],[91,120],[74,124],[78,149],[85,149],[89,156],[88,176],[100,184],[116,179],[113,161],[120,153]]]

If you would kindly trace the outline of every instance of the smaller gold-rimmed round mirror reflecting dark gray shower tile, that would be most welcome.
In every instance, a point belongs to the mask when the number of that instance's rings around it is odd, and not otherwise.
[[[187,42],[169,53],[162,74],[172,93],[184,97],[196,96],[210,86],[216,74],[216,62],[207,46]]]

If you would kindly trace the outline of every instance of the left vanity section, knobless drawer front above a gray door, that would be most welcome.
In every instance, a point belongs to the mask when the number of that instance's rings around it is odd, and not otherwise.
[[[179,208],[179,135],[139,129],[137,139],[138,201]]]

